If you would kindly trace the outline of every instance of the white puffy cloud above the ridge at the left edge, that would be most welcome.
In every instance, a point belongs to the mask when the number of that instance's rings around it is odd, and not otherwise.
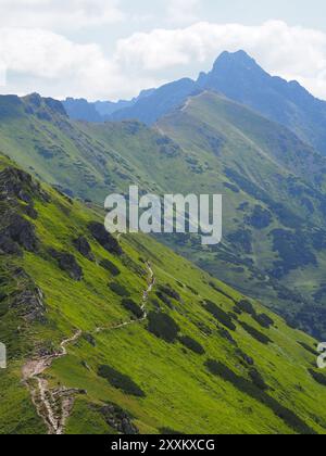
[[[142,74],[130,79],[98,45],[77,45],[41,29],[0,28],[0,62],[8,75],[2,93],[114,99],[160,84]]]

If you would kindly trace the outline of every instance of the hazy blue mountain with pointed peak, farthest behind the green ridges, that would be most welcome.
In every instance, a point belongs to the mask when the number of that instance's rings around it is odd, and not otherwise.
[[[179,90],[183,80],[188,80],[188,87]],[[133,99],[129,106],[117,109],[112,115],[102,116],[101,121],[138,119],[152,125],[201,90],[214,90],[252,107],[326,154],[326,102],[313,97],[298,81],[288,83],[271,76],[243,50],[225,51],[215,60],[212,71],[201,73],[197,80],[186,78],[152,89],[146,102],[141,97]]]

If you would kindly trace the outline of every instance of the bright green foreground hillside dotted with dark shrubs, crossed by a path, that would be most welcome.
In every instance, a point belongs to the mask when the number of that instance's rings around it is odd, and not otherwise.
[[[4,157],[0,189],[1,433],[326,432],[310,337]]]

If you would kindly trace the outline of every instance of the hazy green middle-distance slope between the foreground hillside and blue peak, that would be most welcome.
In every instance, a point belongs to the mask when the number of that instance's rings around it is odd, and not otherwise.
[[[300,328],[325,335],[325,160],[285,128],[214,93],[149,129],[74,123],[53,100],[0,98],[0,150],[65,192],[100,204],[129,185],[223,193],[224,240],[205,251],[161,239]]]

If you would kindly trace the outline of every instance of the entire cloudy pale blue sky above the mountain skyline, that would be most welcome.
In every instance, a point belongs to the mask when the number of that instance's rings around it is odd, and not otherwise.
[[[325,0],[0,0],[0,93],[129,99],[243,49],[326,100],[325,17]]]

